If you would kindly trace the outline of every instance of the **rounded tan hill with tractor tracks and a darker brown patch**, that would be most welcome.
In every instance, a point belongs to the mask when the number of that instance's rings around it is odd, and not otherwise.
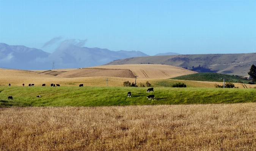
[[[97,67],[80,68],[64,72],[57,77],[120,77],[138,79],[168,79],[176,76],[196,73],[180,67],[161,64],[130,64],[130,65],[101,65]]]

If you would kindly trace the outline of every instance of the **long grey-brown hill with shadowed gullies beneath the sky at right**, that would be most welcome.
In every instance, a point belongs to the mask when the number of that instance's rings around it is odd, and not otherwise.
[[[256,53],[241,54],[187,54],[168,56],[144,56],[119,59],[105,65],[163,64],[184,67],[196,72],[213,72],[228,75],[248,76],[251,64],[256,62]]]

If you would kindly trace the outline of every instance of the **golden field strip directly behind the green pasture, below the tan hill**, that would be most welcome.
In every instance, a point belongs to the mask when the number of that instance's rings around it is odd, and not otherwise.
[[[69,71],[76,71],[83,69],[69,69]],[[56,71],[56,70],[54,70]],[[65,70],[61,70],[59,72],[64,72]],[[44,75],[38,74],[43,71],[33,71],[27,72],[25,70],[12,70],[12,69],[2,69],[0,68],[0,86],[8,86],[10,83],[11,86],[22,86],[24,83],[25,86],[28,84],[35,84],[35,86],[42,86],[42,84],[46,84],[46,86],[50,86],[53,84],[60,84],[61,86],[79,86],[79,84],[83,84],[84,86],[106,86],[107,83],[105,81],[106,78],[110,79],[108,81],[108,86],[123,86],[124,81],[134,82],[135,78],[119,78],[119,77],[80,77],[80,78],[61,78],[58,76],[52,75]],[[214,87],[214,84],[222,85],[223,83],[218,82],[205,82],[205,81],[185,81],[185,80],[174,80],[174,79],[141,79],[137,78],[137,85],[140,83],[145,84],[147,81],[151,84],[157,81],[173,81],[173,83],[182,82],[185,83],[188,87]],[[242,84],[234,83],[236,87],[244,89]],[[251,84],[243,84],[246,85],[247,88],[253,88],[254,85]],[[245,87],[246,88],[246,87]]]

